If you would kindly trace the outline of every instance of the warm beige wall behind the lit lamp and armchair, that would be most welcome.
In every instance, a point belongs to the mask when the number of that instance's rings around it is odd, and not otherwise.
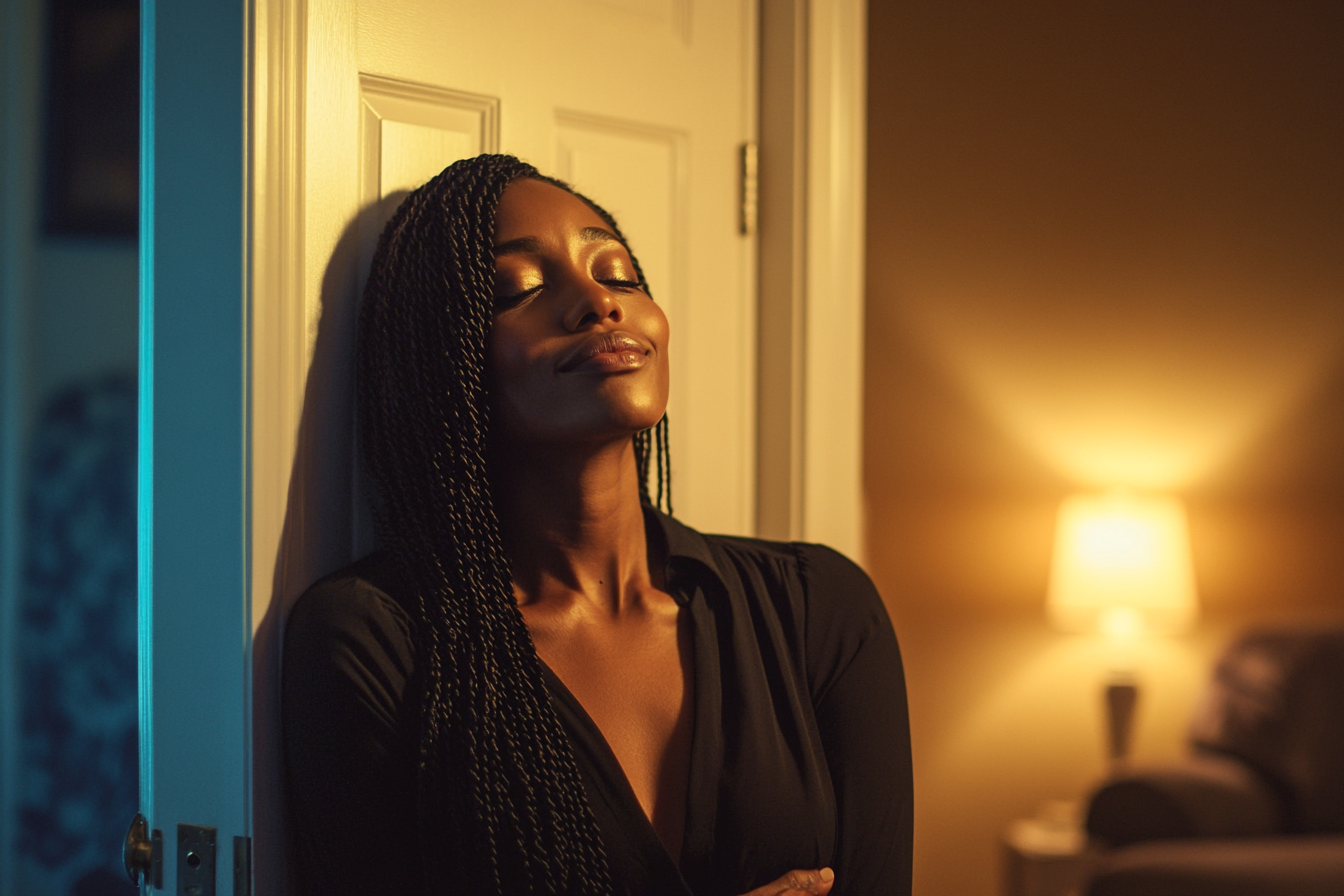
[[[1344,4],[870,4],[868,560],[906,656],[919,896],[1103,771],[1099,686],[1183,750],[1219,646],[1344,615]],[[1203,617],[1044,619],[1078,489],[1184,497]]]

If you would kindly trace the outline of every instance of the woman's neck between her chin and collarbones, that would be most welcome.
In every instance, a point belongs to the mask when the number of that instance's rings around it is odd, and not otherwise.
[[[618,615],[653,584],[630,439],[512,447],[491,478],[523,606],[582,602]]]

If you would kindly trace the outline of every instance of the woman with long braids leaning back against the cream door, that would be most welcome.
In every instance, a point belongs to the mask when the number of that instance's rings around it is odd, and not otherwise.
[[[285,635],[305,892],[909,893],[882,603],[652,506],[668,325],[606,212],[448,168],[383,231],[358,375],[384,547]]]

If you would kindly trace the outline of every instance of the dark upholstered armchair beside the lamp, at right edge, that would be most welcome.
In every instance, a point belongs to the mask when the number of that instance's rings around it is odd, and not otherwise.
[[[1189,742],[1093,794],[1087,896],[1344,893],[1344,629],[1239,638]]]

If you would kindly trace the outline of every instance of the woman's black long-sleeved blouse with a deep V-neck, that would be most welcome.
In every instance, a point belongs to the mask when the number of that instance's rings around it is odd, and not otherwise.
[[[706,536],[648,512],[694,627],[681,856],[664,849],[601,731],[546,668],[617,893],[735,896],[793,868],[832,896],[910,893],[900,653],[864,572],[812,544]],[[284,731],[301,892],[423,893],[411,614],[374,553],[309,588],[285,631]]]

